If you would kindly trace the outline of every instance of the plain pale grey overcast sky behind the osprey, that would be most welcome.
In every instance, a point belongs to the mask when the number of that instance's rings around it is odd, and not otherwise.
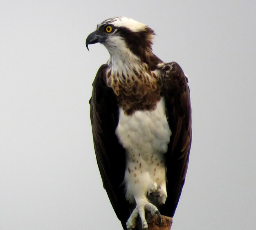
[[[114,16],[157,33],[189,76],[193,142],[173,230],[256,226],[255,0],[0,0],[0,229],[119,230],[99,175],[85,48]]]

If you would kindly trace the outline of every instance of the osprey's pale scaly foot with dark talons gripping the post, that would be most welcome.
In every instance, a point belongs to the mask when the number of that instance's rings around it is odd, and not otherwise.
[[[162,221],[161,214],[158,211],[157,207],[153,205],[152,203],[148,202],[148,200],[145,198],[142,199],[135,199],[136,200],[136,208],[132,211],[132,214],[130,215],[128,221],[126,222],[126,227],[128,230],[132,230],[136,227],[136,220],[139,215],[141,219],[141,226],[142,229],[146,230],[148,229],[148,223],[145,219],[145,210],[151,212],[152,215],[157,214],[159,218],[159,224]]]

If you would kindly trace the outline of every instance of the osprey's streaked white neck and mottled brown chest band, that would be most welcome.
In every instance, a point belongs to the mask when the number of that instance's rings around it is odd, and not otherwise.
[[[106,84],[118,96],[126,114],[155,109],[161,93],[158,69],[151,71],[147,63],[132,53],[110,55],[108,65]]]

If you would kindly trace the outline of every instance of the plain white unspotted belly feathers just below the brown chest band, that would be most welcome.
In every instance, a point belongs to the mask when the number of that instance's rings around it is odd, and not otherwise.
[[[120,109],[116,134],[126,150],[165,153],[171,130],[166,120],[164,98],[153,111],[136,111],[127,116]]]

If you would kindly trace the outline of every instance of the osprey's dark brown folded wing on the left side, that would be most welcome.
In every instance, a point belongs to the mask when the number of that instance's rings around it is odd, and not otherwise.
[[[125,150],[119,144],[115,129],[119,120],[119,106],[112,89],[106,86],[106,68],[102,65],[95,77],[90,99],[92,135],[99,171],[110,202],[126,229],[129,205],[124,194]]]

